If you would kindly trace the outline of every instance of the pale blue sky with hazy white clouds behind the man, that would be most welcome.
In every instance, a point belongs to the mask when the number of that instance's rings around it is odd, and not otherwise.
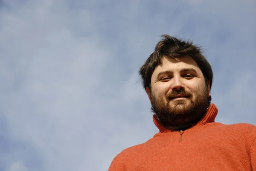
[[[255,0],[0,0],[0,171],[106,171],[158,132],[138,70],[204,48],[216,122],[256,125]]]

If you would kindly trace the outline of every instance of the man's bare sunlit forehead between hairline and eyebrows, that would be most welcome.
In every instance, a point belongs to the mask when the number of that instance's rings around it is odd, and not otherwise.
[[[159,72],[170,70],[182,70],[184,68],[193,68],[197,72],[202,73],[201,69],[198,67],[198,64],[189,56],[183,56],[181,58],[168,58],[163,57],[161,59],[161,64],[156,67],[153,72],[153,75],[158,74]],[[152,76],[153,76],[152,75]]]

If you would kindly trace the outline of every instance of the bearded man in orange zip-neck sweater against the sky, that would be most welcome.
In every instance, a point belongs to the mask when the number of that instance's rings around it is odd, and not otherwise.
[[[122,151],[108,171],[256,171],[256,127],[214,122],[213,74],[201,49],[162,37],[140,68],[159,133]]]

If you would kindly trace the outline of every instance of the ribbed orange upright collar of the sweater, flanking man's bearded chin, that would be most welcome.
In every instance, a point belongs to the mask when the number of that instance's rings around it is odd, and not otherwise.
[[[205,125],[206,123],[215,122],[214,119],[217,116],[217,113],[218,113],[218,108],[215,106],[215,104],[210,104],[203,118],[196,125],[201,125],[201,124]],[[156,114],[153,115],[153,121],[160,132],[169,130],[168,128],[166,128],[160,123]]]

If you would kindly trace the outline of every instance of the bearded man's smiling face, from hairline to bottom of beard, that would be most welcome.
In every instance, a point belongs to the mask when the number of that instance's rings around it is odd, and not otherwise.
[[[208,107],[209,81],[189,56],[162,58],[146,92],[160,122],[172,128],[198,122]]]

